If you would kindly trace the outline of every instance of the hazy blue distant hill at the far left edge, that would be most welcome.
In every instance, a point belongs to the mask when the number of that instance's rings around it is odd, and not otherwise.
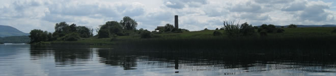
[[[0,25],[0,37],[5,36],[22,36],[22,35],[29,35],[29,33],[24,33],[14,27]]]

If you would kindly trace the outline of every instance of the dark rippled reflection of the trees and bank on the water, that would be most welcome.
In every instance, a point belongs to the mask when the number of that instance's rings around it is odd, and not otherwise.
[[[193,71],[206,73],[205,75],[244,75],[249,72],[271,72],[269,74],[283,72],[278,75],[300,75],[298,72],[301,74],[304,72],[336,73],[335,56],[330,54],[298,52],[234,54],[218,52],[214,49],[162,51],[157,48],[97,49],[90,46],[30,46],[31,60],[51,57],[56,67],[103,64],[105,68],[121,67],[125,71],[158,71],[166,74],[185,74]]]

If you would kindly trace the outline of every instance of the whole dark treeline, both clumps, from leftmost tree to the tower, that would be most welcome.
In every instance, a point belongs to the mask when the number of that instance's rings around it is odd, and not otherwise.
[[[178,33],[183,31],[189,31],[187,29],[178,29],[171,24],[166,24],[163,28],[160,28],[159,31],[148,31],[147,29],[136,29],[137,22],[125,16],[123,19],[118,21],[107,21],[103,25],[99,25],[96,28],[98,32],[97,36],[101,38],[117,37],[117,36],[141,36],[141,38],[150,38],[153,37],[153,33]],[[85,26],[76,26],[76,24],[67,24],[66,22],[60,22],[55,24],[55,31],[48,32],[40,29],[34,29],[30,32],[30,43],[38,42],[48,42],[48,41],[77,41],[80,38],[92,37],[93,29]]]

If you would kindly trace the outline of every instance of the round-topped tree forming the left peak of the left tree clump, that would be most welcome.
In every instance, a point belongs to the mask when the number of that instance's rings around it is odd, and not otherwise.
[[[70,26],[66,22],[60,22],[55,24],[55,32],[69,33]]]

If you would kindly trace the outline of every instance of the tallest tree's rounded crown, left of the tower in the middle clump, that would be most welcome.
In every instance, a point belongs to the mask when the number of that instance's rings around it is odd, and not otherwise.
[[[136,21],[128,16],[125,16],[123,20],[120,21],[120,24],[122,25],[123,29],[126,30],[134,30],[137,26]]]

